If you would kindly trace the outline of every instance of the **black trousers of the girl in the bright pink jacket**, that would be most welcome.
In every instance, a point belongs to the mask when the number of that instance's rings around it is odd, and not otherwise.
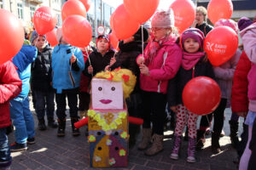
[[[150,128],[153,124],[153,133],[162,135],[166,120],[166,94],[156,92],[142,92],[143,99],[143,127]]]

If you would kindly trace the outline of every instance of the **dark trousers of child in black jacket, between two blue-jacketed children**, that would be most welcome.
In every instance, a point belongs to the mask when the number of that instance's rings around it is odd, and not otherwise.
[[[44,119],[45,111],[46,111],[47,118],[54,118],[55,91],[53,89],[47,92],[34,90],[33,94],[37,101],[36,113],[37,113],[38,119]]]

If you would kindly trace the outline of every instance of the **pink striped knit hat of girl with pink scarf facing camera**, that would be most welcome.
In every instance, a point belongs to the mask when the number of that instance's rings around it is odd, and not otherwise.
[[[188,38],[195,39],[199,43],[200,48],[203,47],[205,36],[204,36],[204,33],[202,31],[200,31],[199,29],[189,28],[189,29],[183,31],[183,33],[181,35],[182,45],[184,44],[185,40]]]

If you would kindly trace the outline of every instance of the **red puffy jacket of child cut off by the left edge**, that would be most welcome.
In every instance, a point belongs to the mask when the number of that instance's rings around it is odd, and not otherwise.
[[[7,61],[0,65],[0,128],[10,123],[9,100],[20,94],[22,82],[15,65]]]

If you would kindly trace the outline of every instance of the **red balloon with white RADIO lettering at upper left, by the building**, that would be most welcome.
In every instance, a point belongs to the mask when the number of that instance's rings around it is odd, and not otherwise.
[[[40,7],[36,10],[33,23],[39,35],[52,31],[57,24],[57,17],[49,7]]]

